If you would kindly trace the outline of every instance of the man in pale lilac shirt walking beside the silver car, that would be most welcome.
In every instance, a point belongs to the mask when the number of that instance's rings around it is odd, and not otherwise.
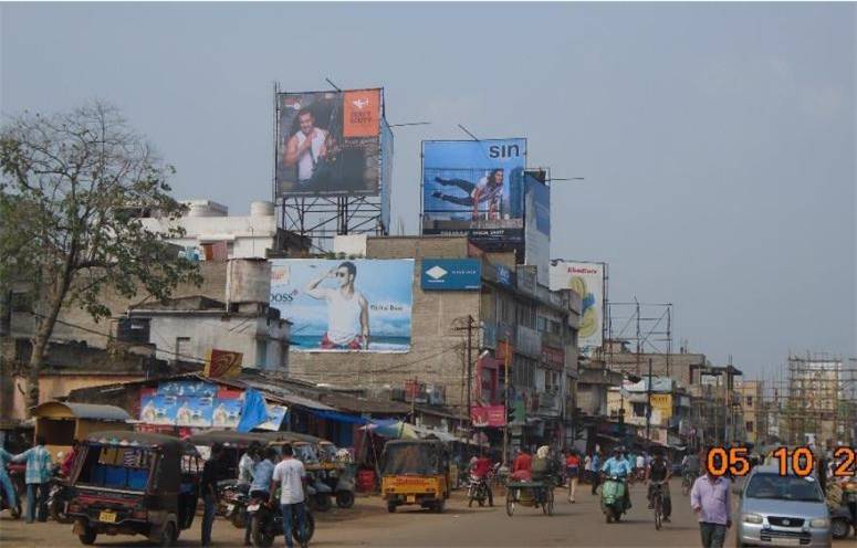
[[[710,467],[706,468],[706,475],[693,482],[690,507],[699,516],[702,548],[722,548],[727,529],[732,527],[730,482],[715,476]]]

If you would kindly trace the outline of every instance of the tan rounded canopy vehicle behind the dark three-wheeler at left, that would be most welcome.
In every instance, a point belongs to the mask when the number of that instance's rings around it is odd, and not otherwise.
[[[33,408],[35,438],[42,436],[54,462],[69,451],[74,440],[102,430],[132,430],[130,415],[115,405],[46,401]]]

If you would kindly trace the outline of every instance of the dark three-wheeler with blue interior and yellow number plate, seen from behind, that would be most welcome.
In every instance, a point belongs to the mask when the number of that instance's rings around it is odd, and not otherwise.
[[[98,535],[143,535],[173,546],[194,523],[202,465],[196,447],[177,438],[91,434],[71,474],[73,531],[84,545]]]

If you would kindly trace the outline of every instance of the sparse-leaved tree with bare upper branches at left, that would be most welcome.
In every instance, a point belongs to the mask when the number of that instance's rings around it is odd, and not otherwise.
[[[93,102],[49,116],[24,112],[0,129],[0,288],[27,283],[34,329],[28,409],[63,307],[95,322],[111,315],[107,288],[128,298],[165,299],[182,282],[199,284],[195,263],[165,240],[181,229],[147,230],[142,212],[175,220],[175,173],[111,105]],[[170,223],[171,224],[171,223]]]

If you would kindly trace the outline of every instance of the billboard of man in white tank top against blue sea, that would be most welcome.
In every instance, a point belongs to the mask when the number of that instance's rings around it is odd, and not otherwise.
[[[271,306],[292,323],[290,351],[409,351],[412,287],[412,259],[271,261]]]

